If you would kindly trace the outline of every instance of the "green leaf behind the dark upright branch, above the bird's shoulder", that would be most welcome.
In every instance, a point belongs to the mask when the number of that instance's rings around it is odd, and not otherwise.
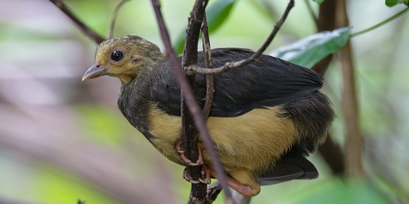
[[[235,2],[235,0],[218,0],[206,9],[209,33],[212,33],[220,27],[224,20],[229,16]],[[185,39],[186,32],[183,31],[180,33],[175,43],[174,49],[176,54],[183,53]]]

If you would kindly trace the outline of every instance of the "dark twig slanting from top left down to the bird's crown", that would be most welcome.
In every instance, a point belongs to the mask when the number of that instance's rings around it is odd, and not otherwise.
[[[82,33],[84,33],[89,38],[93,39],[96,43],[101,43],[105,39],[97,34],[95,31],[91,30],[87,25],[85,25],[81,20],[79,20],[76,16],[67,7],[62,3],[61,0],[50,0],[56,7],[58,7],[62,12],[65,13],[71,20],[75,22],[77,27],[80,29]]]

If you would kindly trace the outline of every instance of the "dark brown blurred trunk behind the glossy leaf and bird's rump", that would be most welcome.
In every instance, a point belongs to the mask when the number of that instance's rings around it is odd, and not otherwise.
[[[327,0],[320,5],[320,14],[316,21],[319,32],[331,31],[336,28],[335,6],[336,0]],[[324,75],[331,60],[332,55],[325,57],[320,62],[315,64],[314,67],[312,67],[312,70]],[[327,140],[318,150],[334,174],[344,173],[345,167],[342,149],[331,139],[331,136],[328,135]]]

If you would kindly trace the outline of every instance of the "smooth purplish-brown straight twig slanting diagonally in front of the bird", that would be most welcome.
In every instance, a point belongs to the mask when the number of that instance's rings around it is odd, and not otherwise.
[[[185,78],[185,74],[183,72],[183,68],[181,67],[180,63],[176,58],[176,54],[172,48],[172,44],[170,42],[169,33],[166,28],[165,21],[162,16],[161,12],[161,4],[158,0],[151,0],[153,9],[155,11],[156,19],[158,22],[159,29],[161,31],[162,40],[166,47],[166,55],[172,63],[172,68],[175,72],[177,77],[178,83],[180,88],[183,90],[183,94],[186,99],[186,103],[188,105],[188,109],[194,118],[194,122],[196,127],[202,137],[203,142],[206,145],[207,150],[209,151],[210,157],[212,158],[213,165],[216,167],[216,173],[220,177],[220,182],[222,184],[226,200],[231,200],[230,191],[226,182],[226,175],[224,173],[223,168],[221,167],[221,163],[218,159],[216,150],[213,146],[212,139],[210,137],[209,131],[206,127],[205,119],[201,114],[200,107],[197,105],[196,100],[193,96],[193,91]],[[224,183],[224,184],[223,184]]]

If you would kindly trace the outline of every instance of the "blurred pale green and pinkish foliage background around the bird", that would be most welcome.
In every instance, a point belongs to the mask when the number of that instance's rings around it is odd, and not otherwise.
[[[107,36],[119,1],[66,0]],[[210,6],[214,1],[210,1]],[[163,0],[177,44],[194,1]],[[237,0],[211,33],[211,45],[257,49],[287,1]],[[310,2],[314,12],[318,5]],[[183,167],[165,159],[116,107],[119,80],[81,82],[94,63],[93,41],[46,0],[0,0],[0,203],[184,203]],[[352,33],[405,8],[383,0],[348,1]],[[365,178],[332,175],[311,157],[319,179],[262,187],[252,203],[409,203],[409,15],[352,38]],[[296,1],[267,53],[316,33],[305,1]],[[163,48],[149,1],[120,10],[115,36],[136,34]],[[201,47],[201,46],[199,46]],[[324,91],[337,112],[332,138],[344,144],[342,77],[335,54]],[[216,203],[222,203],[219,196]],[[14,202],[11,202],[13,200]]]

